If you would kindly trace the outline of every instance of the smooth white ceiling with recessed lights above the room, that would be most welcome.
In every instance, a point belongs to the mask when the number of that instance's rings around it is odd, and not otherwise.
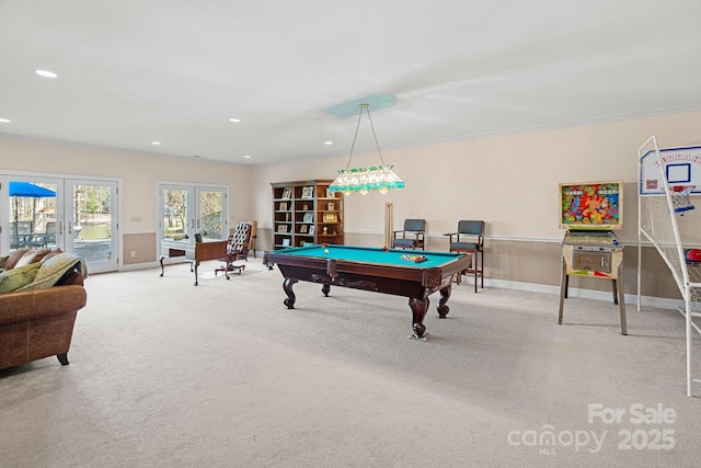
[[[357,114],[324,110],[376,94],[383,150],[698,110],[700,24],[700,0],[0,0],[0,135],[267,164],[347,156]]]

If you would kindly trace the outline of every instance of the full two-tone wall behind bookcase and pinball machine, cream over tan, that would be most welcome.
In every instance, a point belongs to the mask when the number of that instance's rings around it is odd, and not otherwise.
[[[635,292],[637,265],[637,150],[656,135],[660,147],[701,145],[701,113],[583,125],[507,136],[383,150],[384,161],[406,183],[404,191],[350,195],[345,202],[346,243],[382,246],[384,203],[394,205],[395,227],[405,218],[426,218],[427,248],[447,250],[443,233],[460,219],[486,221],[486,276],[509,282],[558,285],[560,242],[558,192],[563,182],[624,182],[625,284]],[[377,128],[382,138],[381,126]],[[253,212],[258,246],[269,249],[269,182],[334,178],[347,158],[310,160],[254,170]],[[377,153],[354,155],[354,167],[374,165]],[[699,204],[699,203],[697,203]],[[701,243],[701,209],[680,224],[687,242]],[[650,259],[650,262],[647,261]],[[678,298],[656,252],[645,254],[644,295]],[[575,278],[571,287],[608,290],[610,282]],[[602,284],[601,284],[602,283]]]

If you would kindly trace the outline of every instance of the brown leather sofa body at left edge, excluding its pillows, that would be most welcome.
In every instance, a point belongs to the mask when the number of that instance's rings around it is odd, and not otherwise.
[[[0,294],[0,369],[53,355],[68,364],[73,323],[87,293],[78,271],[59,284]]]

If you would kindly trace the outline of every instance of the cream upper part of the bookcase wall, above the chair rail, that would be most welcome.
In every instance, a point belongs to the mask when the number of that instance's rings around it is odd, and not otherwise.
[[[639,147],[653,134],[662,147],[701,145],[700,128],[701,112],[696,112],[383,150],[406,189],[346,197],[346,229],[381,231],[384,203],[392,202],[397,224],[426,218],[432,233],[455,230],[459,219],[484,219],[492,238],[560,241],[560,183],[623,180],[625,226],[619,237],[636,241]],[[260,225],[271,226],[269,182],[333,179],[346,162],[343,157],[256,168],[253,210]],[[354,155],[353,162],[374,165],[379,158]],[[693,224],[701,210],[688,216]]]

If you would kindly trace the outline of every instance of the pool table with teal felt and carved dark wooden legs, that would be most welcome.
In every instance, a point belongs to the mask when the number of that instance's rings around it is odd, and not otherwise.
[[[415,263],[402,255],[423,255],[426,260]],[[329,296],[331,286],[341,286],[409,297],[412,336],[422,339],[428,296],[440,292],[437,309],[439,318],[445,319],[450,310],[446,303],[452,275],[468,269],[470,258],[451,252],[314,244],[265,252],[263,263],[269,270],[277,264],[283,273],[283,289],[287,294],[284,304],[288,309],[295,308],[292,286],[298,281],[321,284],[324,296]]]

